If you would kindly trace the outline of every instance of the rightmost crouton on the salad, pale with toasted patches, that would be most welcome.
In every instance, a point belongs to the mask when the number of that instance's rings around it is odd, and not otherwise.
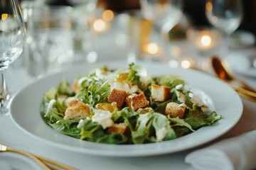
[[[186,104],[178,104],[175,102],[170,102],[166,105],[165,113],[166,115],[170,115],[171,118],[184,118],[186,112]]]

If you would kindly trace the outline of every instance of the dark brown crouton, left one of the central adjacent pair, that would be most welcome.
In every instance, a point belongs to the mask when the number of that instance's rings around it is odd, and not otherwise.
[[[128,96],[127,91],[119,90],[119,89],[112,89],[110,96],[107,97],[107,101],[112,103],[117,103],[118,108],[122,108],[125,98]]]

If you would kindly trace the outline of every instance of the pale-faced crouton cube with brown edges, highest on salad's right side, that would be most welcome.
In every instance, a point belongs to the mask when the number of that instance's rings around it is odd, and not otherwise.
[[[154,101],[167,101],[170,98],[169,86],[151,85],[151,97]]]

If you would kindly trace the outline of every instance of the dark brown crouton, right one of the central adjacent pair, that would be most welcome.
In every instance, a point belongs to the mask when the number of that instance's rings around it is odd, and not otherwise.
[[[144,94],[132,94],[126,98],[125,103],[134,111],[137,111],[139,108],[146,108],[149,106],[149,101],[146,100],[146,96]]]

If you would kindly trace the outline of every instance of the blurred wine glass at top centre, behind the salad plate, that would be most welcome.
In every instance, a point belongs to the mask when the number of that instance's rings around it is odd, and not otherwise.
[[[140,0],[140,4],[145,18],[160,28],[162,40],[169,40],[169,31],[176,26],[182,16],[182,1]]]

